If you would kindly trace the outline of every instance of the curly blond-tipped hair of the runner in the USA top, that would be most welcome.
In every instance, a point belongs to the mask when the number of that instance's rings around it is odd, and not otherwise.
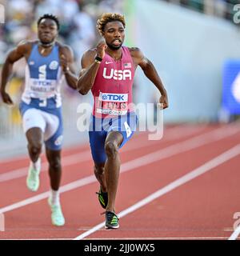
[[[123,27],[125,28],[126,26],[125,18],[122,14],[102,14],[101,18],[99,18],[97,22],[97,29],[101,35],[103,35],[104,28],[108,22],[122,22]]]

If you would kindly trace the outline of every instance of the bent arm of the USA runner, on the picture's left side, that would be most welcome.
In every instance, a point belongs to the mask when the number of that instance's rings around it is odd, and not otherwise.
[[[78,78],[78,92],[82,95],[87,94],[94,85],[94,80],[100,66],[99,63],[94,61],[95,56],[96,52],[94,50],[88,50],[82,56],[82,70]]]

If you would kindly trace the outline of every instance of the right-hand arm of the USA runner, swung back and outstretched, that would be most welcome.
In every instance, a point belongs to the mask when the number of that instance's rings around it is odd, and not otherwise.
[[[162,84],[162,80],[159,77],[158,72],[154,67],[154,64],[152,62],[150,62],[150,60],[148,58],[146,58],[142,54],[142,51],[139,50],[138,48],[131,50],[131,55],[134,59],[134,62],[137,65],[141,66],[146,77],[149,78],[150,81],[153,82],[154,85],[160,91],[161,97],[159,99],[159,102],[162,103],[163,109],[166,109],[168,107],[168,98],[167,98],[166,89],[164,88],[164,86]]]

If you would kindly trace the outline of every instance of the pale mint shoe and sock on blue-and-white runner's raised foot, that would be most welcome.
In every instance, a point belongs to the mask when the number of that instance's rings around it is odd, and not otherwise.
[[[26,186],[30,191],[37,191],[39,187],[39,173],[41,169],[41,161],[38,158],[38,168],[34,169],[33,163],[30,162],[28,174],[26,177]]]

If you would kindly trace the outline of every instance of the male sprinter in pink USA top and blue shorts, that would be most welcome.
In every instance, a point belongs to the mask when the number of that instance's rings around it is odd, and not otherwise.
[[[138,65],[160,91],[163,108],[168,106],[166,90],[154,65],[138,48],[122,46],[125,26],[121,14],[102,14],[97,28],[104,42],[83,54],[78,78],[79,93],[91,90],[94,95],[89,136],[94,174],[100,183],[98,200],[106,209],[106,229],[119,226],[114,210],[120,170],[118,149],[130,139],[136,126],[131,103]]]

